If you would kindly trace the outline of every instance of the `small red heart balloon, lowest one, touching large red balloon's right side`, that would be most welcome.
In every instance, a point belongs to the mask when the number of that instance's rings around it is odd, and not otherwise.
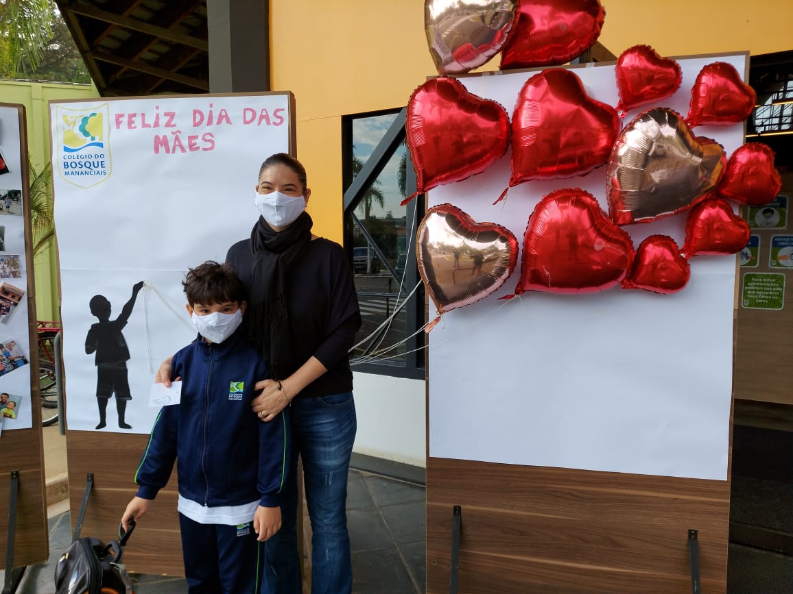
[[[623,289],[644,289],[654,293],[676,293],[688,284],[691,266],[668,235],[650,235],[639,244]]]

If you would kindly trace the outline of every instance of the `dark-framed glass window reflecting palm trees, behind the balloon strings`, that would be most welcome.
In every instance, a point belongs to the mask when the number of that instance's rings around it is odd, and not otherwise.
[[[377,152],[398,113],[345,118],[345,190]],[[356,341],[362,344],[352,353],[353,369],[423,378],[423,286],[417,287],[413,246],[420,215],[416,218],[415,200],[400,206],[415,189],[404,141],[390,154],[382,154],[381,162],[381,172],[345,213],[345,246],[363,321]],[[413,188],[408,188],[408,180]]]

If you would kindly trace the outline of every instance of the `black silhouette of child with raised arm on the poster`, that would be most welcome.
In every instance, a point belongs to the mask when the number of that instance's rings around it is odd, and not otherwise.
[[[107,401],[114,392],[116,394],[118,426],[122,429],[132,428],[132,425],[128,425],[124,420],[127,401],[132,400],[132,394],[129,392],[127,378],[129,349],[121,330],[127,325],[132,308],[135,307],[135,299],[143,286],[144,281],[141,280],[140,283],[136,283],[132,287],[132,297],[121,308],[121,315],[112,322],[110,321],[110,302],[105,295],[94,295],[89,303],[91,314],[94,314],[99,320],[90,327],[86,336],[86,355],[96,352],[97,402],[99,404],[99,425],[96,428],[98,429],[107,425],[105,418]]]

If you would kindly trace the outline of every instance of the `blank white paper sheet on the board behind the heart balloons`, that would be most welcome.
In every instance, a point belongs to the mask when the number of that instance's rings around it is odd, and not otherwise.
[[[646,109],[688,113],[705,65],[746,71],[746,55],[679,59],[680,89]],[[538,70],[537,70],[538,71]],[[510,117],[532,72],[464,77]],[[615,106],[615,66],[575,68],[587,94]],[[743,124],[699,126],[727,157]],[[468,180],[434,188],[427,208],[449,202],[479,222],[507,227],[523,244],[529,215],[557,188],[583,188],[607,211],[605,167],[583,177],[530,181],[493,205],[510,178],[511,151]],[[652,234],[684,242],[686,213],[623,227],[634,246]],[[522,254],[521,254],[522,257]],[[732,390],[735,257],[694,257],[683,291],[613,288],[587,295],[527,292],[511,301],[515,273],[494,295],[452,310],[429,335],[432,457],[726,480]],[[435,309],[430,307],[430,319]]]

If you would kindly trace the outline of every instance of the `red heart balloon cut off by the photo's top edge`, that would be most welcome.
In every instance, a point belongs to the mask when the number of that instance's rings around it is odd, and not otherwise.
[[[568,63],[595,44],[605,18],[598,0],[521,0],[501,70]]]

